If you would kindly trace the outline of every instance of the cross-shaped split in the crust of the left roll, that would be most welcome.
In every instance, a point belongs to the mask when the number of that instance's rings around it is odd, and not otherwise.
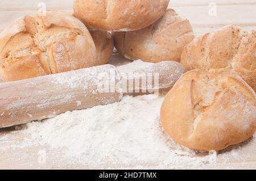
[[[53,65],[50,60],[54,58],[51,56],[50,51],[52,45],[59,41],[73,39],[77,35],[83,34],[83,32],[55,25],[46,27],[42,18],[38,15],[25,16],[24,22],[26,23],[26,31],[19,32],[11,37],[1,52],[2,68],[8,66],[12,60],[35,55],[39,59],[37,64],[42,66],[45,74],[57,73],[53,71]],[[11,48],[15,43],[20,44],[20,47],[19,45],[16,46],[18,49]]]

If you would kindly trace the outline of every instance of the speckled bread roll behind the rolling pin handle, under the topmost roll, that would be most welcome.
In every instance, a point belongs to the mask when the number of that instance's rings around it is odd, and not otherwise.
[[[156,23],[143,30],[115,32],[118,52],[129,60],[180,61],[185,45],[194,39],[191,24],[169,9]]]

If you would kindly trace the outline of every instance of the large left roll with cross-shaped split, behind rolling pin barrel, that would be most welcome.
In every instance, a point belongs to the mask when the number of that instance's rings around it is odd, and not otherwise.
[[[72,15],[23,16],[0,34],[0,76],[5,82],[87,68],[95,61],[92,36]]]

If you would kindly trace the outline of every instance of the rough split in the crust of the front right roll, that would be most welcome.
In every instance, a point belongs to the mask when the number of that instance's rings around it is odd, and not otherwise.
[[[203,120],[205,113],[209,111],[218,98],[223,96],[225,92],[233,92],[243,97],[244,100],[256,106],[255,96],[246,86],[240,86],[241,80],[236,77],[229,76],[227,79],[220,81],[221,77],[215,70],[210,70],[212,75],[206,75],[202,79],[192,79],[191,81],[191,102],[193,112],[193,123],[191,136],[196,131],[197,125]],[[215,76],[217,75],[217,76]],[[225,74],[224,74],[225,75]]]

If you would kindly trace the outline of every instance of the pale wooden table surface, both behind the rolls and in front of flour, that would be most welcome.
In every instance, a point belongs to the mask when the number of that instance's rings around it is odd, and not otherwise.
[[[46,3],[47,10],[60,10],[72,12],[72,0],[1,0],[0,1],[0,31],[13,20],[22,15],[35,14],[38,11],[39,2]],[[170,7],[181,16],[191,21],[196,35],[217,30],[228,24],[235,24],[245,30],[256,30],[256,0],[171,0]],[[216,13],[215,13],[216,12]],[[3,139],[3,136],[8,138]],[[8,129],[0,129],[0,146],[14,145],[27,135],[10,132]],[[0,149],[0,169],[94,169],[97,166],[68,166],[65,160],[60,164],[48,162],[40,165],[38,151],[42,148],[28,147],[8,151]],[[196,169],[256,169],[256,140],[252,138],[237,149],[236,156],[232,156],[232,149],[226,150],[231,156],[218,154],[217,163]],[[23,157],[20,157],[22,153]],[[51,153],[52,158],[61,158],[58,153]],[[108,168],[108,166],[106,166]],[[168,168],[166,168],[168,169]]]

